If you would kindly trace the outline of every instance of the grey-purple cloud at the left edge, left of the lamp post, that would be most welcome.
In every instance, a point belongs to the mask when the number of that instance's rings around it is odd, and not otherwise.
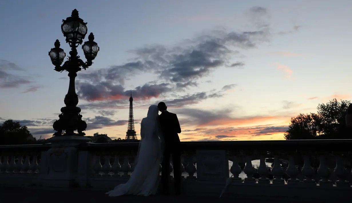
[[[23,84],[30,84],[32,81],[27,77],[15,75],[13,72],[23,71],[15,63],[0,60],[0,88],[17,88]]]

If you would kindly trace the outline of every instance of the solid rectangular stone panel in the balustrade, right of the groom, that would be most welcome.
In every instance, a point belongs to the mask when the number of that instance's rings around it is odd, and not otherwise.
[[[197,180],[224,182],[230,176],[225,150],[197,150]]]

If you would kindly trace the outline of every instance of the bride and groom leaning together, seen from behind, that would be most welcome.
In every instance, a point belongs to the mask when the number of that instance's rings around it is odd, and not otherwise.
[[[161,112],[160,115],[159,111]],[[112,197],[155,195],[160,182],[159,169],[160,163],[162,163],[161,193],[169,195],[169,164],[170,156],[172,156],[175,195],[180,195],[181,150],[178,133],[181,133],[181,127],[177,115],[168,112],[164,102],[151,105],[147,116],[140,123],[141,139],[131,178],[126,183],[117,185],[106,194]]]

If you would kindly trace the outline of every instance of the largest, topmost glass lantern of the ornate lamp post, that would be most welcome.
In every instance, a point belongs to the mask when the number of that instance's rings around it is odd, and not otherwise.
[[[61,31],[66,37],[66,42],[70,44],[82,44],[87,34],[87,23],[78,17],[78,11],[74,9],[71,17],[62,20]]]

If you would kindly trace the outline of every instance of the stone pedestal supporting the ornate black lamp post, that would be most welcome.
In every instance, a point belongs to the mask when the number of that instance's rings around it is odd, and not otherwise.
[[[82,136],[61,136],[49,138],[51,148],[45,153],[43,164],[43,186],[76,187],[78,174],[78,150],[75,146],[89,142],[91,139]]]

